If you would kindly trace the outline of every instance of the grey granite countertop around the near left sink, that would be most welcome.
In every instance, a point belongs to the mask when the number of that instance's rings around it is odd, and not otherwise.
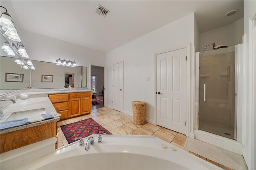
[[[0,122],[5,121],[5,119],[7,119],[8,116],[13,112],[40,109],[40,108],[45,108],[46,113],[56,112],[56,110],[52,105],[52,102],[48,97],[28,98],[26,100],[17,99],[15,104],[10,104],[9,106],[3,109],[4,117],[0,120]],[[17,130],[25,129],[28,127],[38,126],[45,123],[51,123],[59,120],[60,120],[60,117],[56,117],[53,119],[46,119],[44,121],[38,121],[35,123],[30,123],[30,124],[26,124],[18,127],[12,127],[9,129],[1,130],[0,134],[17,131]]]

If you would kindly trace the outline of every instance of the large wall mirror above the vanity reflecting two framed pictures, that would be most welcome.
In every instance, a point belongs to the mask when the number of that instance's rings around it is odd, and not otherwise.
[[[32,61],[36,69],[30,70],[22,68],[15,60],[13,57],[0,57],[0,90],[63,88],[69,85],[76,88],[87,87],[87,67]]]

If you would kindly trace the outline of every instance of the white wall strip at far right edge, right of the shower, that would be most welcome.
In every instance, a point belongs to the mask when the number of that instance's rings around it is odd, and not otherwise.
[[[248,169],[256,169],[256,118],[255,118],[255,44],[253,44],[251,20],[256,15],[256,1],[244,1],[244,42],[243,42],[243,65],[241,66],[241,77],[244,80],[243,87],[243,136],[244,160]],[[255,27],[255,25],[254,25]],[[255,30],[254,30],[255,31]],[[255,43],[255,37],[254,37]]]

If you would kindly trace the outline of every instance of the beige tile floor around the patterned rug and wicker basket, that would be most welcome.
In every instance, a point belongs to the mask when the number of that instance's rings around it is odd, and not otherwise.
[[[92,112],[90,114],[58,121],[58,148],[68,145],[68,141],[66,141],[66,138],[62,133],[62,130],[60,129],[60,126],[88,119],[91,117],[100,125],[102,125],[105,129],[110,131],[113,135],[154,135],[168,143],[171,143],[176,147],[179,147],[180,149],[186,150],[183,148],[187,139],[185,135],[172,131],[170,129],[166,129],[164,127],[160,127],[158,125],[153,125],[151,123],[145,123],[144,125],[135,125],[132,123],[132,116],[126,115],[114,109],[109,109],[107,107],[101,107],[97,105],[92,107]],[[223,169],[232,170],[226,166],[218,164],[217,162],[206,159],[194,152],[191,152],[189,150],[186,151],[204,160],[207,160],[208,162],[211,162],[212,164],[215,164]]]

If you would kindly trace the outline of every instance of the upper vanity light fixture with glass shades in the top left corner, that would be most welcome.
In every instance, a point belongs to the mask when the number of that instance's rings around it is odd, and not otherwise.
[[[4,8],[3,6],[0,6]],[[20,42],[20,37],[16,28],[14,27],[14,23],[12,21],[12,17],[7,13],[7,9],[4,8],[6,12],[3,12],[0,17],[0,25],[2,25],[2,30],[4,30],[4,34],[8,36],[12,41]]]

